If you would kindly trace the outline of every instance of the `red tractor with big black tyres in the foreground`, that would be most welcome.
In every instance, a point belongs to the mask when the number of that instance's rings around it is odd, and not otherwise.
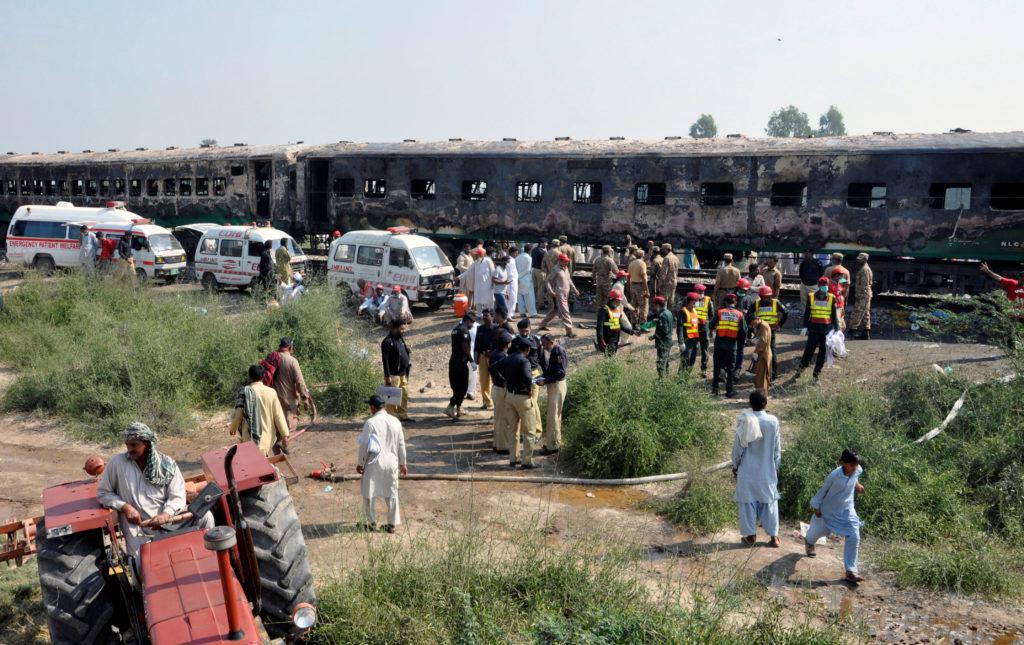
[[[312,573],[279,470],[245,442],[204,455],[203,472],[188,480],[193,489],[205,486],[174,518],[181,527],[142,545],[138,562],[122,546],[116,511],[96,501],[95,479],[43,491],[35,545],[32,520],[17,544],[8,530],[0,559],[36,552],[53,643],[265,644],[305,636],[316,615]],[[214,528],[188,525],[207,512]]]

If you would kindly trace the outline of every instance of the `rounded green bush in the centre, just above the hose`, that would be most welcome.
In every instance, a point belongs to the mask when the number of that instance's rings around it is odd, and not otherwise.
[[[622,356],[592,361],[568,378],[566,453],[588,477],[638,477],[682,449],[709,457],[724,441],[710,396],[685,377],[657,379],[651,365]]]

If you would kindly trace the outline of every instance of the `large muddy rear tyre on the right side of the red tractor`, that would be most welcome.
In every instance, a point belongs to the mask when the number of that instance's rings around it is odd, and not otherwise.
[[[284,481],[247,490],[241,498],[263,588],[260,615],[270,636],[289,636],[295,629],[292,625],[295,605],[316,603],[299,516]]]

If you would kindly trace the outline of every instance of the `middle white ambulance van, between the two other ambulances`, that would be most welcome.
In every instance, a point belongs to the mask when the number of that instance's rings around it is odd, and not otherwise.
[[[305,273],[306,256],[291,235],[263,226],[212,226],[196,249],[196,275],[207,289],[248,289],[259,280],[259,256],[269,242],[273,252],[284,245],[292,256],[292,272]]]

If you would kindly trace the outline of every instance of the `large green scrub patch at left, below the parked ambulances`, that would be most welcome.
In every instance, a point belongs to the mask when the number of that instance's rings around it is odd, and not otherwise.
[[[379,382],[326,288],[269,312],[247,298],[228,310],[216,296],[30,272],[5,305],[0,360],[18,378],[3,407],[61,416],[93,439],[133,419],[162,432],[193,428],[193,411],[230,405],[248,365],[281,336],[295,338],[307,383],[330,384],[314,391],[322,412],[351,415]]]

